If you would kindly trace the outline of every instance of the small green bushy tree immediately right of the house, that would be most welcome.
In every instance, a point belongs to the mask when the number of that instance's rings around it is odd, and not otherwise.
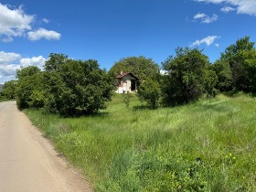
[[[156,80],[144,80],[138,88],[138,96],[146,101],[151,108],[157,108],[161,96],[160,84]]]

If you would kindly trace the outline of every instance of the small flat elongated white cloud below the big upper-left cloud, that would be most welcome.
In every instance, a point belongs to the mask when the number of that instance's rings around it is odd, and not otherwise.
[[[28,32],[27,37],[32,41],[40,40],[42,38],[46,38],[48,40],[59,40],[60,34],[56,31],[39,28],[37,31]]]

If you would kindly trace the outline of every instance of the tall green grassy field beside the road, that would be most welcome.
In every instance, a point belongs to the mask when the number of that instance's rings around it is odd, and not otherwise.
[[[26,111],[95,191],[256,191],[256,99],[219,95],[147,109],[115,95],[106,111],[60,118]]]

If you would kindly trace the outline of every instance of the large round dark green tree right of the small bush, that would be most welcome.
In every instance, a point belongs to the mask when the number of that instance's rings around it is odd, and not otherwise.
[[[177,105],[196,101],[204,93],[211,91],[206,89],[206,84],[214,74],[208,74],[208,65],[208,57],[201,50],[176,48],[176,56],[163,62],[164,69],[168,71],[163,83],[165,104]],[[214,84],[214,80],[210,83]],[[212,85],[208,88],[213,89]]]

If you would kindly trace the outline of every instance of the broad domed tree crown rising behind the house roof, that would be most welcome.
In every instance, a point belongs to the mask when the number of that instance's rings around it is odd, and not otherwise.
[[[144,56],[140,56],[120,59],[114,63],[109,70],[109,74],[115,80],[121,71],[132,72],[142,82],[145,79],[155,79],[155,75],[159,74],[160,69],[152,59],[146,59]]]

